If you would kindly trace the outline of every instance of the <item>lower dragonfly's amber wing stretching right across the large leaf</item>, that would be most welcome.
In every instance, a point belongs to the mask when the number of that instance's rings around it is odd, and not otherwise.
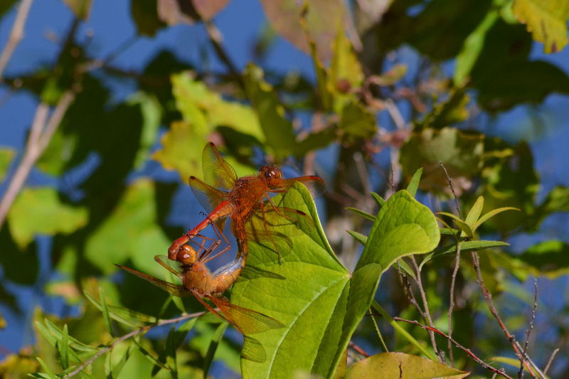
[[[265,314],[241,306],[231,304],[223,299],[206,295],[208,299],[216,304],[219,311],[225,316],[231,324],[243,334],[255,334],[268,331],[270,329],[284,328],[285,325],[280,321],[272,319]]]

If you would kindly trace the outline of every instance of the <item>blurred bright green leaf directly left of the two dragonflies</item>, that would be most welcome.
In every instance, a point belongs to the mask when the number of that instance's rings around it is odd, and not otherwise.
[[[158,274],[153,257],[169,244],[169,238],[156,223],[154,183],[139,178],[127,188],[105,222],[87,238],[84,254],[103,272],[114,272],[115,263],[130,258],[144,272]]]

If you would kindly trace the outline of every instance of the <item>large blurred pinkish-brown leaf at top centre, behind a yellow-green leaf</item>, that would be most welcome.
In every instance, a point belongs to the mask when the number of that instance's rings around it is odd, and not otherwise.
[[[329,60],[333,54],[336,33],[346,21],[344,1],[308,0],[305,3],[307,26],[317,46],[319,60]],[[310,53],[307,35],[300,23],[304,2],[262,0],[261,4],[272,28],[304,53]]]

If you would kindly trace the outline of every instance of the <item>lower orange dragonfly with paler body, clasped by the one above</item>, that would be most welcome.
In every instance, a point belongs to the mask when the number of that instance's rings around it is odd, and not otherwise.
[[[216,231],[216,233],[218,232]],[[208,240],[213,240],[201,235],[198,235],[197,237],[204,238],[204,242],[206,238]],[[156,287],[164,289],[164,291],[171,295],[177,297],[193,295],[201,302],[201,304],[203,304],[203,306],[206,306],[208,311],[211,311],[222,320],[229,321],[230,324],[233,324],[233,326],[235,326],[240,333],[243,333],[243,335],[261,333],[270,329],[279,329],[284,327],[285,325],[280,323],[280,321],[272,319],[271,317],[257,311],[252,311],[251,309],[231,304],[228,299],[223,297],[223,292],[225,292],[225,290],[231,287],[235,282],[235,279],[239,276],[241,269],[243,269],[243,265],[238,259],[228,265],[220,267],[216,272],[211,273],[208,267],[206,267],[206,262],[213,259],[213,257],[210,257],[211,252],[216,250],[219,242],[220,240],[213,242],[208,249],[203,247],[203,245],[197,244],[200,246],[200,253],[196,252],[196,250],[189,245],[182,246],[181,250],[188,255],[188,260],[185,263],[174,262],[169,260],[165,255],[156,255],[156,257],[154,257],[156,262],[181,279],[183,284],[182,286],[156,279],[155,277],[151,277],[148,274],[144,274],[129,267],[121,265],[117,266],[146,280],[147,282],[150,282],[151,284],[154,284]],[[217,306],[218,310],[208,304],[204,298],[211,300],[213,304]]]

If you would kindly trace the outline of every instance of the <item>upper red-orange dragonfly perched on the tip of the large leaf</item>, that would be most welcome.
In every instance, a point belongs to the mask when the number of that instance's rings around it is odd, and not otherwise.
[[[189,183],[193,194],[209,214],[195,228],[172,243],[168,249],[170,260],[186,262],[187,253],[181,247],[212,223],[223,230],[227,218],[231,219],[230,230],[238,244],[235,262],[239,261],[243,266],[249,252],[248,239],[270,241],[281,263],[274,237],[292,237],[302,233],[303,228],[314,227],[309,215],[275,205],[270,194],[285,193],[300,182],[307,186],[313,196],[317,195],[326,188],[326,183],[318,176],[283,179],[277,166],[268,165],[262,166],[256,176],[238,178],[235,169],[221,157],[216,145],[211,142],[203,149],[202,169],[203,181],[190,176]],[[222,237],[227,242],[223,234]]]

